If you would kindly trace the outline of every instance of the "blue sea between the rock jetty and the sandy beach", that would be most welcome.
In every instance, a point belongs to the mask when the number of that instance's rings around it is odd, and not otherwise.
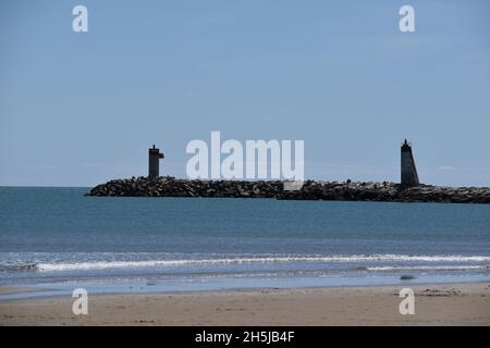
[[[0,187],[0,285],[99,291],[488,281],[490,206]]]

